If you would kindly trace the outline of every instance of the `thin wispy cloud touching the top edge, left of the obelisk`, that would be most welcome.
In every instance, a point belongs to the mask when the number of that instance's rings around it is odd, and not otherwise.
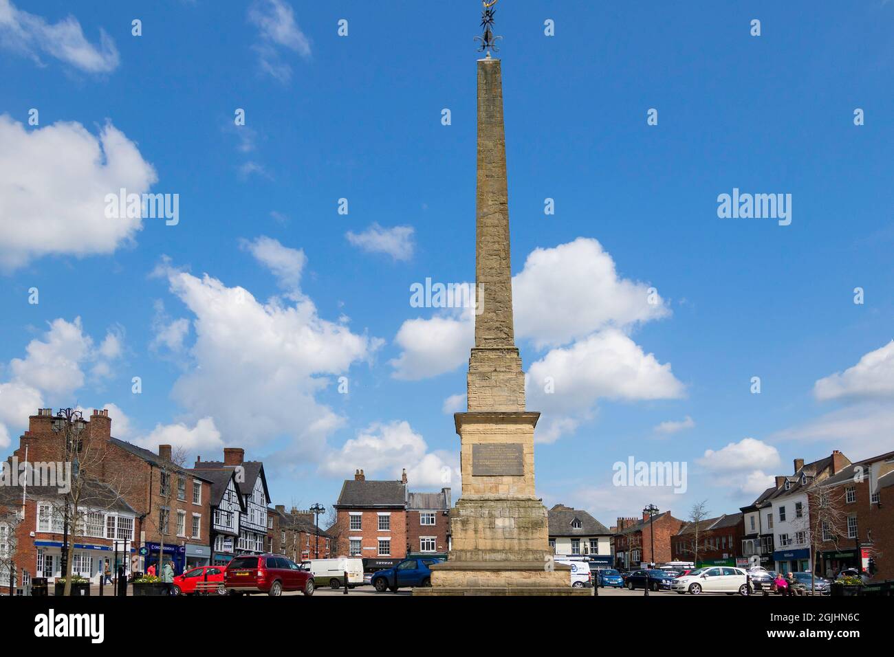
[[[257,27],[256,44],[261,69],[283,83],[291,79],[291,65],[283,61],[281,51],[289,50],[305,59],[310,57],[310,40],[295,21],[291,5],[284,0],[256,0],[249,7],[249,22]]]

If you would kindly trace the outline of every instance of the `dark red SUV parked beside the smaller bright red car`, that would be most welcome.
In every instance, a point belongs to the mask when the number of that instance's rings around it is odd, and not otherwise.
[[[236,557],[223,576],[231,595],[282,595],[286,591],[314,594],[314,576],[292,560],[275,554]]]

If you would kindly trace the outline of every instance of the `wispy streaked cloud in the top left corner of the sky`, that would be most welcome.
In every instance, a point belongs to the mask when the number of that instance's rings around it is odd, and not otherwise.
[[[9,0],[0,0],[0,45],[29,56],[39,65],[44,65],[40,55],[45,54],[89,73],[112,72],[119,63],[118,49],[105,29],[99,29],[96,46],[84,37],[74,16],[50,23],[17,9]]]

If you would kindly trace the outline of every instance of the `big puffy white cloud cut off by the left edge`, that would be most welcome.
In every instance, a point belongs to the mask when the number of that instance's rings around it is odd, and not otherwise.
[[[142,228],[141,217],[105,216],[106,194],[142,194],[157,180],[111,123],[97,139],[80,123],[26,131],[3,114],[0,143],[0,268],[48,254],[109,254]]]

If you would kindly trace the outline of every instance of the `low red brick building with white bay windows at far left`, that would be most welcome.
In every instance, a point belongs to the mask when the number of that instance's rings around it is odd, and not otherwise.
[[[0,588],[6,590],[11,571],[15,585],[25,574],[25,584],[32,577],[50,582],[63,577],[64,503],[63,493],[52,486],[0,486]],[[68,535],[74,543],[73,574],[98,584],[106,561],[113,572],[119,564],[127,566],[131,553],[122,549],[133,542],[136,511],[120,495],[104,484],[86,484],[75,519]]]

